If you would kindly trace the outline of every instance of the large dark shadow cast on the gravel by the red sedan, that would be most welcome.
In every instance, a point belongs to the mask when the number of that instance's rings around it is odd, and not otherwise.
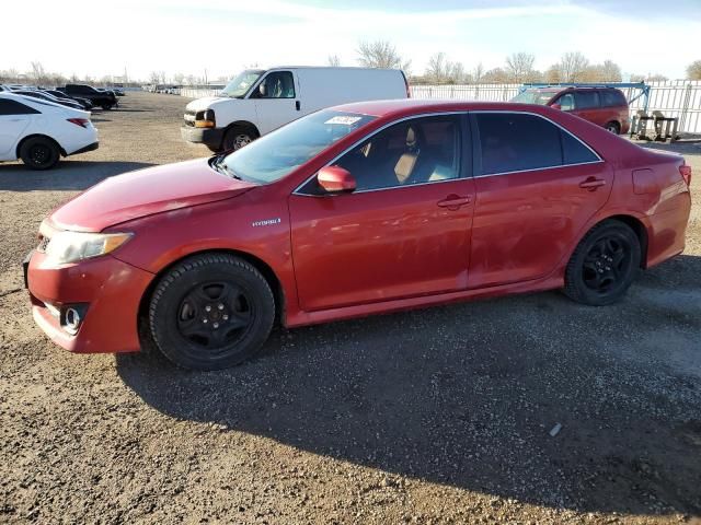
[[[698,275],[681,256],[617,306],[502,298],[278,328],[220,372],[141,354],[117,372],[173,418],[387,472],[553,509],[701,515]]]

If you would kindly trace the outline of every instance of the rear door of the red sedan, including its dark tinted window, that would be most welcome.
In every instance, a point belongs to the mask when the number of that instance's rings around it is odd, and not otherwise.
[[[470,288],[549,275],[606,203],[612,168],[549,119],[475,112]]]

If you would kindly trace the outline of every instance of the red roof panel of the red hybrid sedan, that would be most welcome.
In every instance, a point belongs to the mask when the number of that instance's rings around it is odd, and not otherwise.
[[[358,113],[374,117],[397,117],[421,115],[425,113],[450,112],[522,112],[550,114],[555,112],[547,106],[536,104],[516,104],[509,102],[467,102],[467,101],[437,101],[420,98],[397,98],[388,101],[354,102],[333,107],[335,110]],[[555,112],[556,113],[556,112]]]

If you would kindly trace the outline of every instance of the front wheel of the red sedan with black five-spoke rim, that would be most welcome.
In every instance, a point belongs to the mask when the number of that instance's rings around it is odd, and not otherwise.
[[[228,254],[189,257],[158,282],[149,305],[150,335],[173,363],[220,370],[252,358],[275,320],[268,282]]]

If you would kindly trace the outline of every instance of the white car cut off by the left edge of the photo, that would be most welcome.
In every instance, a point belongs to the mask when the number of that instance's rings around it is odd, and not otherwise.
[[[60,156],[96,150],[90,113],[11,92],[0,93],[0,162],[32,170],[54,167]]]

